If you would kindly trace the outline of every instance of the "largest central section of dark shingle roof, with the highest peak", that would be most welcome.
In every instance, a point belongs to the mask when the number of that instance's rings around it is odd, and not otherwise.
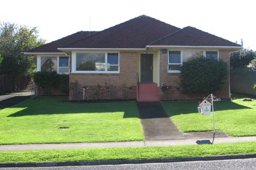
[[[150,42],[180,28],[149,16],[139,16],[62,48],[145,48]]]

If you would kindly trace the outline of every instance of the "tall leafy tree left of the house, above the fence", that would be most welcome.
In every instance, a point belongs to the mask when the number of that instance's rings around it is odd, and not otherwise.
[[[39,39],[36,28],[18,26],[14,23],[0,23],[0,53],[3,61],[0,73],[31,75],[36,68],[35,59],[23,54],[32,48],[41,46],[45,40]]]

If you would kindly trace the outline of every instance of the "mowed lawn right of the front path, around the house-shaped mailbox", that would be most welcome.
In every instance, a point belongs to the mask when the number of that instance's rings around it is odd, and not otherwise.
[[[256,100],[242,101],[245,96],[236,95],[233,100],[214,103],[216,130],[231,136],[256,136]],[[198,113],[198,102],[164,102],[164,109],[181,131],[211,131],[212,116]]]

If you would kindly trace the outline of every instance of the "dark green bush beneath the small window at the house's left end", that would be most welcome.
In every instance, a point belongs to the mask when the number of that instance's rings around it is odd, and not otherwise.
[[[59,89],[64,93],[69,92],[69,75],[57,74],[56,71],[36,72],[33,76],[37,86],[44,89]]]

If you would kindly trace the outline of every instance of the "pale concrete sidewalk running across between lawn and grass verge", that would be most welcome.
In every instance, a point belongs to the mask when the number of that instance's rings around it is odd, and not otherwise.
[[[159,147],[179,146],[188,144],[205,144],[212,141],[212,138],[198,138],[186,140],[166,141],[136,141],[136,142],[102,142],[102,143],[57,143],[57,144],[10,144],[0,145],[1,151],[7,150],[35,150],[35,149],[81,149],[81,148],[114,148],[114,147]],[[256,142],[256,136],[249,137],[220,137],[215,138],[217,143],[235,142]]]

